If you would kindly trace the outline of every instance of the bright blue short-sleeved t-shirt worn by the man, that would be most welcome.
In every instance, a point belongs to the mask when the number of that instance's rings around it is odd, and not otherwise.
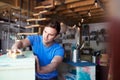
[[[40,66],[46,66],[51,63],[54,56],[64,57],[64,49],[58,43],[53,43],[51,46],[46,47],[43,44],[42,36],[31,35],[28,36],[30,44],[32,46],[33,53],[37,55]],[[47,74],[36,73],[36,76],[42,79],[50,79],[58,75],[57,70],[54,70]]]

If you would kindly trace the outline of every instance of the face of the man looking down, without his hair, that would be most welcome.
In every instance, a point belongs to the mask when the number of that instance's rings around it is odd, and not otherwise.
[[[43,43],[45,45],[51,44],[55,39],[56,34],[57,34],[56,29],[51,27],[45,27],[45,29],[43,30]]]

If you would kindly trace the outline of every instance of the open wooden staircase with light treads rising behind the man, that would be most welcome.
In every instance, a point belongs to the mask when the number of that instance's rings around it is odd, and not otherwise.
[[[46,21],[49,21],[50,18],[43,17],[43,15],[52,14],[52,12],[50,12],[50,10],[53,8],[54,8],[54,0],[45,0],[43,2],[38,3],[38,6],[36,6],[34,8],[34,10],[36,12],[33,14],[34,18],[27,19],[28,23],[34,23],[34,24],[28,25],[25,27],[25,28],[33,28],[33,29],[37,28],[38,32],[32,31],[31,33],[18,33],[17,35],[41,34],[45,25],[41,25],[41,24],[39,24],[39,22],[44,23]]]

